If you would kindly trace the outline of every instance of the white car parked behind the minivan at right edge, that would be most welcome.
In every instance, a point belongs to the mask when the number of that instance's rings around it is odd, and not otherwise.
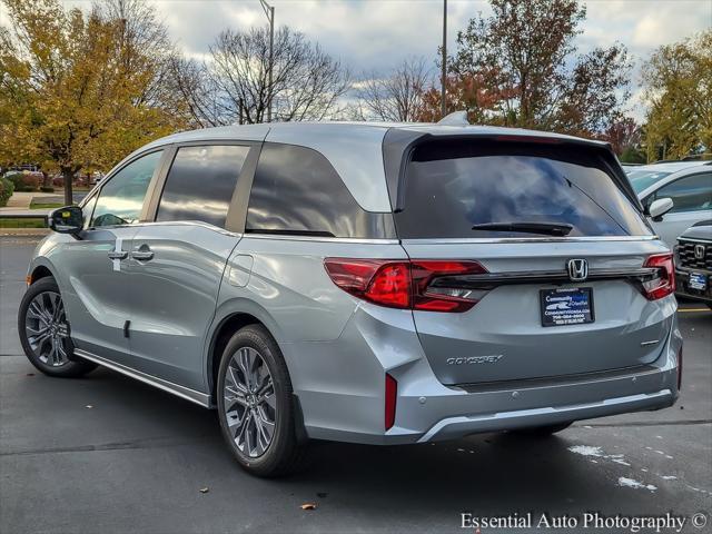
[[[671,248],[680,234],[712,218],[712,161],[646,165],[627,177],[656,234]]]

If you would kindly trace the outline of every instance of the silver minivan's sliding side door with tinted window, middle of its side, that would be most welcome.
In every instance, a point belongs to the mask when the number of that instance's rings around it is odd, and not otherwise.
[[[204,342],[227,258],[241,237],[226,227],[250,150],[256,159],[249,145],[178,147],[157,190],[156,221],[134,237],[129,343],[144,373],[204,388]]]

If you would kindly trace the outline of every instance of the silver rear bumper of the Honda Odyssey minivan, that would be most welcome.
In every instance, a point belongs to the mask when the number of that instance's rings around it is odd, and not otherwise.
[[[299,347],[300,355],[293,355],[300,357],[300,369],[309,367],[307,360],[315,362],[309,376],[293,377],[309,437],[380,445],[424,443],[660,409],[678,398],[682,337],[674,318],[660,356],[650,365],[456,387],[436,378],[406,317],[384,328],[385,314],[378,317],[378,313],[358,310],[337,346],[312,344],[308,353]],[[338,360],[338,368],[328,383],[317,384],[315,374],[324,373],[326,359]],[[322,362],[318,372],[316,362]],[[387,432],[385,373],[398,382],[395,426]]]

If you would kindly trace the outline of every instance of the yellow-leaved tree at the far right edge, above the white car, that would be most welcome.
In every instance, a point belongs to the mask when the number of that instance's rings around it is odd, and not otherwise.
[[[659,48],[642,81],[649,160],[712,148],[712,30]]]

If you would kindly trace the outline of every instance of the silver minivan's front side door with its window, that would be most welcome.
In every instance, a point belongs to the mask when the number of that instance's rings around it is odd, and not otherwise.
[[[129,251],[161,154],[136,159],[110,177],[83,207],[80,239],[55,259],[66,266],[62,296],[76,348],[131,367]]]

